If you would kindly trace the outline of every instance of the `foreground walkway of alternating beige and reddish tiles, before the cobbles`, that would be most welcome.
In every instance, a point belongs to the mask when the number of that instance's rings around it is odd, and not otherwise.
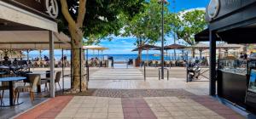
[[[71,98],[65,96],[50,99],[48,102],[16,117],[16,119],[26,118],[240,119],[243,117],[219,104],[216,100],[205,96],[190,98],[176,96],[143,98],[75,96]]]

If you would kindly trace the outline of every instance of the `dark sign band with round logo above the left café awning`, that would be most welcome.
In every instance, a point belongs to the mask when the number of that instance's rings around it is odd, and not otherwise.
[[[19,8],[24,8],[28,11],[46,14],[55,19],[59,14],[57,0],[2,0],[6,3],[11,3]]]

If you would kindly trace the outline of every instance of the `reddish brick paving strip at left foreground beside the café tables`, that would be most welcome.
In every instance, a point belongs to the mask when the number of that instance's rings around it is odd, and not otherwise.
[[[15,117],[15,119],[55,118],[71,99],[73,99],[73,96],[59,96],[49,99],[32,110]]]

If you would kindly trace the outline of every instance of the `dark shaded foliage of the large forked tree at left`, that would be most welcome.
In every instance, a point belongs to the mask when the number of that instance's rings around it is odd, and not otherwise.
[[[69,13],[73,20],[77,20],[79,0],[68,0]],[[88,39],[87,44],[100,42],[102,37],[110,34],[119,35],[124,22],[120,20],[120,15],[125,15],[127,20],[131,20],[141,8],[144,0],[87,0],[86,14],[84,18],[84,38]],[[58,19],[59,30],[69,35],[67,20],[63,15]]]

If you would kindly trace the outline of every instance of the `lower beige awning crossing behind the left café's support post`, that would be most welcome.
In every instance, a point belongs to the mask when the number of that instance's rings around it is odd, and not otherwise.
[[[71,48],[62,32],[54,40],[55,48]],[[49,31],[0,31],[0,49],[49,49]]]

